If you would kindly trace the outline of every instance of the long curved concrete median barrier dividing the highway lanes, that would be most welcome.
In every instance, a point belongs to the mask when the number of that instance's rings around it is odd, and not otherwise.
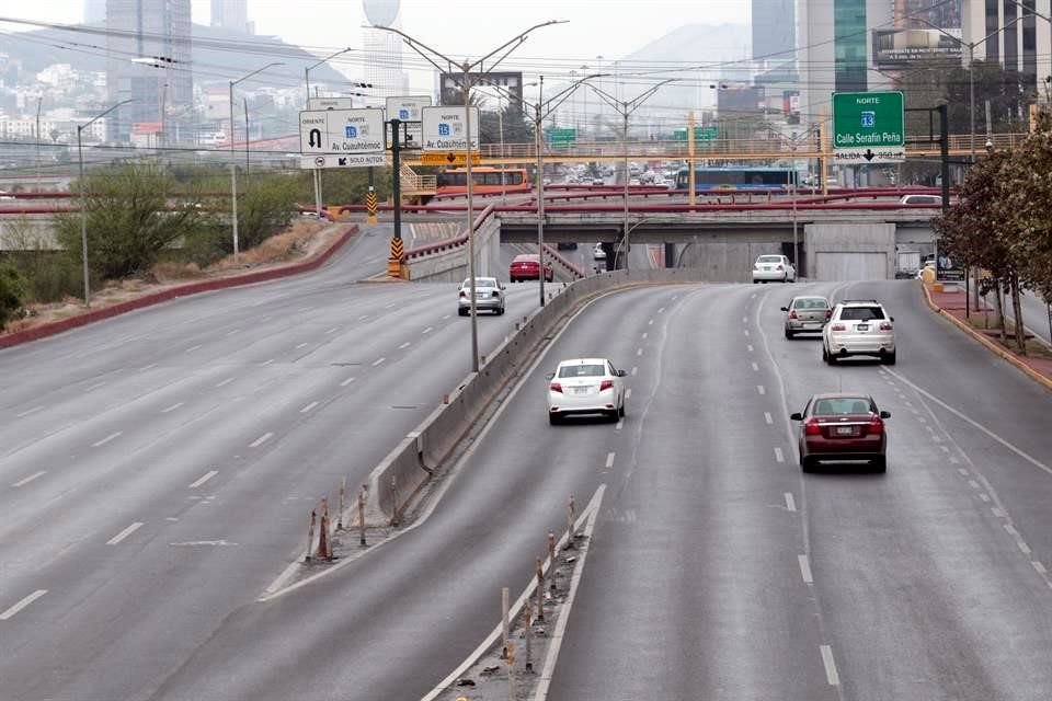
[[[695,268],[659,268],[614,271],[576,280],[564,288],[552,286],[553,295],[545,308],[528,317],[515,334],[480,363],[478,374],[472,372],[459,382],[449,393],[448,402],[435,409],[373,469],[367,520],[371,524],[392,520],[396,497],[400,510],[448,458],[498,392],[522,376],[534,359],[537,344],[584,300],[630,285],[696,283],[700,279],[701,271]]]

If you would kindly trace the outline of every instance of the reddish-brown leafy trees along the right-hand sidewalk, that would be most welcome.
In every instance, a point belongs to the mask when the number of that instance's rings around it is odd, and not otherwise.
[[[1022,329],[1020,297],[1033,290],[1052,301],[1052,122],[1018,148],[995,150],[971,166],[958,189],[959,202],[936,217],[940,252],[986,272],[980,292],[995,292],[996,326],[1006,342],[1002,292],[1011,296],[1014,319]],[[1025,334],[1015,334],[1016,353],[1027,355]]]

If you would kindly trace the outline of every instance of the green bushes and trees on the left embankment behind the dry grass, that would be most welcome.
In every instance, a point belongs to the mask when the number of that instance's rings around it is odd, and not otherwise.
[[[388,197],[389,182],[390,171],[376,169],[380,200]],[[233,252],[226,166],[141,160],[92,170],[84,186],[93,290],[199,277],[209,266],[226,264]],[[79,187],[77,181],[71,184],[75,193]],[[329,205],[364,204],[367,192],[364,169],[323,174]],[[271,263],[301,251],[318,227],[297,221],[298,207],[312,207],[313,202],[310,171],[259,166],[240,172],[239,263]],[[31,306],[83,296],[81,214],[56,215],[52,225],[45,232],[38,220],[25,217],[3,222],[3,237],[13,245],[0,257],[0,330]]]

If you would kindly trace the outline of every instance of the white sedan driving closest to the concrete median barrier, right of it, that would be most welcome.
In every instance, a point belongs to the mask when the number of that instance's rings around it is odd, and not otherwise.
[[[565,416],[601,414],[617,421],[625,415],[625,370],[606,358],[562,360],[548,375],[548,422]]]

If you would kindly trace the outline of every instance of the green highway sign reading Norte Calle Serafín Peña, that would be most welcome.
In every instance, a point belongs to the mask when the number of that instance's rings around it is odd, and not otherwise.
[[[833,94],[833,160],[842,165],[901,163],[906,130],[901,92]]]

